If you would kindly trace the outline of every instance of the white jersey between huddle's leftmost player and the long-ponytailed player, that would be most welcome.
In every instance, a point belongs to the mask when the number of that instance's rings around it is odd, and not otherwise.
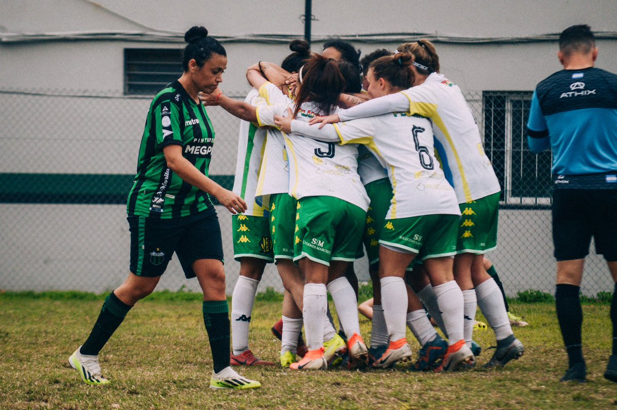
[[[257,121],[261,129],[266,130],[267,137],[255,197],[257,202],[268,206],[270,195],[289,192],[289,163],[285,138],[280,129],[270,126],[274,124],[274,116],[278,114],[273,107],[284,105],[293,109],[294,102],[269,82],[259,88],[259,95],[263,100],[257,105]]]

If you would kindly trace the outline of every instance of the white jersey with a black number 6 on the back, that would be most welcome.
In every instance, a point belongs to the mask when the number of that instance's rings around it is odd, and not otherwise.
[[[460,215],[457,196],[434,155],[431,121],[404,112],[360,118],[322,129],[292,122],[294,133],[341,144],[363,144],[376,154],[392,184],[387,219]]]

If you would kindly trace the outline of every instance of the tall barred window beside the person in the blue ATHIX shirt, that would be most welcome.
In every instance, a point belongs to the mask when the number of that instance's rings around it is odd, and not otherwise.
[[[548,205],[550,151],[539,155],[527,146],[531,91],[484,91],[484,147],[502,186],[507,205]]]

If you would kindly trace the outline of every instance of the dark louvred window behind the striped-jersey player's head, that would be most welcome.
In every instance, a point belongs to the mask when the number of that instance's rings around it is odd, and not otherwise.
[[[180,49],[125,49],[124,94],[154,96],[183,72]]]

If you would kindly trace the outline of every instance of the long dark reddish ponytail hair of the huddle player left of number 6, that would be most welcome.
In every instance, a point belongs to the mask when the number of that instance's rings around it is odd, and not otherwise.
[[[336,61],[313,55],[300,69],[300,73],[300,89],[294,115],[300,112],[302,103],[309,101],[317,105],[321,114],[329,115],[345,89],[345,79]]]

